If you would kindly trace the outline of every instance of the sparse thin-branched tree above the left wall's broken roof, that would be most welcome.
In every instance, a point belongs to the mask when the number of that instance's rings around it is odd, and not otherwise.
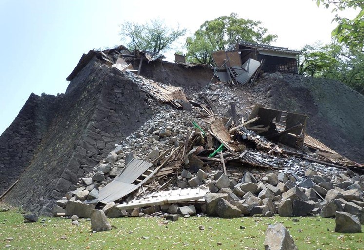
[[[120,27],[119,34],[124,40],[129,40],[127,46],[130,50],[147,50],[153,53],[170,49],[172,43],[186,33],[186,29],[180,29],[179,26],[176,29],[169,28],[158,19],[145,24],[124,22]]]

